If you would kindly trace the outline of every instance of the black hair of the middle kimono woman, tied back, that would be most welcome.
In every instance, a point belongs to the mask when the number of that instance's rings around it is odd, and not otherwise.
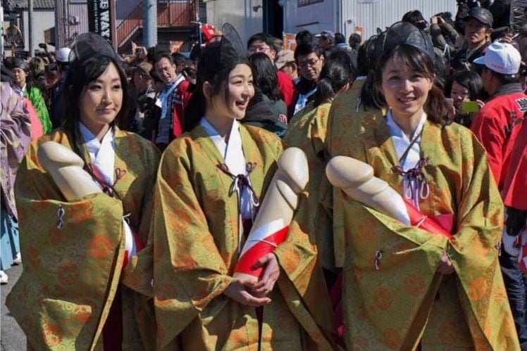
[[[185,108],[183,132],[190,132],[194,129],[205,115],[207,102],[203,94],[204,83],[211,84],[211,96],[218,96],[223,89],[223,100],[227,101],[229,91],[225,87],[228,84],[230,71],[241,63],[249,65],[247,57],[237,56],[235,52],[231,52],[230,55],[232,57],[228,57],[222,51],[222,42],[213,42],[203,49],[197,65],[196,87]]]

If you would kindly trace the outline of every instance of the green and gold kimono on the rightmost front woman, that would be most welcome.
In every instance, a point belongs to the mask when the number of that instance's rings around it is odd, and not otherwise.
[[[367,162],[376,177],[402,193],[385,122],[362,129],[347,155]],[[421,340],[422,350],[519,350],[497,259],[503,205],[485,150],[464,127],[426,121],[421,157],[429,158],[423,172],[430,187],[421,212],[453,214],[451,239],[401,224],[335,192],[345,214],[347,348],[411,350]],[[454,274],[435,273],[443,252]]]

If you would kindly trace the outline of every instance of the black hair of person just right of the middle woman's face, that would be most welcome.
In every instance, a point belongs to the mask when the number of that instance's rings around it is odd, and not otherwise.
[[[249,56],[249,63],[256,91],[267,96],[271,101],[280,100],[282,96],[278,90],[277,69],[271,62],[271,58],[266,53],[253,53]]]

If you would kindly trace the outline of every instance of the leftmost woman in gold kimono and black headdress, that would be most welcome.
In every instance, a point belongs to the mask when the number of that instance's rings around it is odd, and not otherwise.
[[[111,46],[83,34],[74,51],[63,127],[32,143],[16,179],[25,261],[7,306],[30,350],[153,350],[155,321],[120,277],[147,241],[159,152],[117,127],[127,80]],[[44,141],[77,153],[101,193],[66,200],[37,158]]]

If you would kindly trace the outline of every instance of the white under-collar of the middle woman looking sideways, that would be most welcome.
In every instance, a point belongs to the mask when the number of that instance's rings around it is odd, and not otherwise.
[[[225,140],[214,129],[214,127],[206,120],[205,117],[199,122],[199,125],[204,127],[207,134],[209,134],[218,151],[225,160],[225,165],[229,168],[232,174],[247,174],[247,166],[242,147],[242,136],[240,135],[240,123],[233,119],[233,127],[230,129],[229,141]]]

